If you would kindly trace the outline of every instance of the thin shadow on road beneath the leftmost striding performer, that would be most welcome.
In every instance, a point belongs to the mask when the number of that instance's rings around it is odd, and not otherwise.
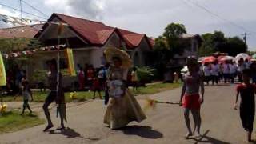
[[[65,130],[50,130],[49,134],[62,134],[64,136],[66,136],[66,138],[83,138],[83,139],[87,139],[90,141],[98,141],[99,138],[86,138],[83,137],[81,134],[79,134],[78,132],[76,132],[75,130],[67,127]]]

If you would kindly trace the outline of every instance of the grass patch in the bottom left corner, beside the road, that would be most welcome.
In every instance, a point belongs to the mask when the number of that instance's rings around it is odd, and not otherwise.
[[[23,130],[29,127],[38,126],[45,121],[38,118],[37,114],[25,113],[20,115],[18,111],[8,111],[0,116],[0,134]]]

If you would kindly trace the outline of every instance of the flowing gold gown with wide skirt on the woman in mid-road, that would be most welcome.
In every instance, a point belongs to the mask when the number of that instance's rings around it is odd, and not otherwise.
[[[110,70],[110,80],[126,80],[125,70],[114,68]],[[124,77],[125,75],[125,77]],[[134,95],[128,89],[120,98],[110,98],[109,105],[104,116],[104,123],[111,129],[118,129],[126,126],[132,121],[142,122],[146,119],[141,106],[139,106]]]

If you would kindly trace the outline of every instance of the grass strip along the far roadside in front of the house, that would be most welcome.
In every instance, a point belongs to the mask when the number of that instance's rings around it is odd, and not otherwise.
[[[139,87],[138,90],[133,91],[133,88],[130,87],[130,91],[133,92],[135,95],[142,95],[142,94],[156,94],[165,90],[172,90],[181,86],[181,82],[178,83],[156,83],[145,87]],[[49,92],[33,92],[34,101],[33,102],[44,102],[46,99],[47,94]],[[101,92],[102,97],[104,96],[104,92]],[[83,102],[88,99],[92,99],[94,96],[94,92],[90,91],[77,91],[77,101]],[[96,98],[98,97],[98,93],[96,93]],[[0,96],[3,102],[21,102],[22,96]],[[66,102],[74,102],[72,98],[70,98],[70,92],[65,93]]]

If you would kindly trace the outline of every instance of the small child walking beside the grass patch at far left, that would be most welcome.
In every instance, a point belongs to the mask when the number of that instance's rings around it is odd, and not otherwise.
[[[29,105],[29,99],[31,98],[33,101],[32,97],[32,92],[30,90],[29,82],[28,81],[23,81],[22,82],[22,96],[23,96],[23,110],[22,110],[22,115],[24,114],[26,108],[30,110],[30,114],[32,114],[32,110],[30,109]]]

